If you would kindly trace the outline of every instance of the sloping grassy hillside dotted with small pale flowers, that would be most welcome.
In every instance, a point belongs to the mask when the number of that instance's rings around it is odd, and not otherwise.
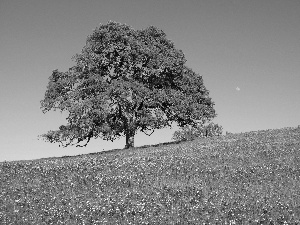
[[[2,162],[0,224],[300,224],[300,128]]]

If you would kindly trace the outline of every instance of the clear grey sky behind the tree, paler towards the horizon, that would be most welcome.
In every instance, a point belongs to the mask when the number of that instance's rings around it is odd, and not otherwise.
[[[52,70],[66,71],[86,37],[109,20],[165,31],[203,76],[214,122],[233,133],[300,124],[299,0],[0,0],[0,162],[123,148],[37,140],[67,114],[40,110]],[[171,141],[176,130],[137,134],[135,145]]]

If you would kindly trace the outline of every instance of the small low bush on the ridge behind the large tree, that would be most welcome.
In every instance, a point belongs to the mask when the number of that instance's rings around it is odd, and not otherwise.
[[[198,137],[220,136],[223,133],[222,126],[214,123],[192,127],[187,125],[178,131],[175,131],[172,139],[175,141],[190,141]]]

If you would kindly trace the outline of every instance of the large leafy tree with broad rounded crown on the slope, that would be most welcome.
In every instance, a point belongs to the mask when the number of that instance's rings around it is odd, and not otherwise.
[[[73,59],[68,71],[52,72],[41,101],[44,113],[68,112],[66,125],[41,135],[51,143],[86,146],[91,138],[125,136],[129,148],[138,130],[151,135],[172,122],[196,126],[216,116],[202,77],[154,26],[100,25]]]

